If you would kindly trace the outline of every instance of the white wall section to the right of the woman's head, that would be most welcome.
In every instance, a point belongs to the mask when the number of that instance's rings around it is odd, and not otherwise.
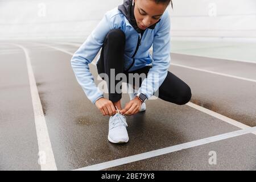
[[[255,0],[172,0],[174,39],[256,39]]]

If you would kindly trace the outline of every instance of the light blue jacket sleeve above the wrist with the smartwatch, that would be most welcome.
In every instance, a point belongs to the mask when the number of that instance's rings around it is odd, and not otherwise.
[[[143,80],[141,88],[138,90],[139,93],[143,93],[147,98],[153,96],[162,85],[170,67],[171,25],[168,10],[166,10],[160,22],[160,28],[154,35],[153,40],[152,68],[148,71],[147,78]]]

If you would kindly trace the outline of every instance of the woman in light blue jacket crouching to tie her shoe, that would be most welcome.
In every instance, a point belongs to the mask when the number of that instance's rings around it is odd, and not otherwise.
[[[103,115],[110,116],[108,140],[112,143],[128,142],[125,115],[146,110],[144,101],[156,93],[162,100],[178,105],[191,99],[189,86],[168,72],[170,16],[166,9],[170,3],[172,5],[171,0],[124,0],[122,5],[105,14],[71,59],[77,81],[86,96]],[[151,46],[152,55],[149,52]],[[97,71],[108,77],[109,99],[104,98],[103,92],[94,84],[88,66],[100,48]],[[138,91],[130,93],[131,100],[122,109],[122,93],[117,92],[116,76],[123,74],[127,76],[126,82],[135,85],[133,79],[129,80],[135,73],[146,77],[138,81]],[[105,76],[101,76],[102,79]]]

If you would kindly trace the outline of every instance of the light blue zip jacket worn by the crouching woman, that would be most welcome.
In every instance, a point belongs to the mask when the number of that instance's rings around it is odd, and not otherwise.
[[[158,90],[159,86],[162,85],[167,76],[171,60],[170,15],[168,9],[166,9],[160,21],[156,23],[154,29],[147,28],[144,31],[141,46],[139,46],[136,55],[132,57],[137,47],[138,36],[141,38],[141,34],[135,31],[125,15],[115,7],[104,15],[104,18],[102,18],[71,59],[71,66],[76,79],[93,104],[103,97],[103,92],[94,83],[88,64],[92,63],[100,51],[108,32],[117,28],[125,32],[126,35],[124,69],[126,70],[131,66],[129,71],[134,71],[146,65],[152,65],[147,78],[143,80],[141,88],[138,90],[139,93],[143,93],[147,98],[150,98]],[[153,46],[152,55],[149,52],[151,46]],[[158,76],[155,76],[155,73]]]

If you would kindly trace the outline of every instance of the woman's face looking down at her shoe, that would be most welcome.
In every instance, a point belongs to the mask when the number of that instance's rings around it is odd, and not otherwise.
[[[140,29],[145,30],[158,22],[167,4],[156,4],[154,0],[134,0],[134,16]]]

